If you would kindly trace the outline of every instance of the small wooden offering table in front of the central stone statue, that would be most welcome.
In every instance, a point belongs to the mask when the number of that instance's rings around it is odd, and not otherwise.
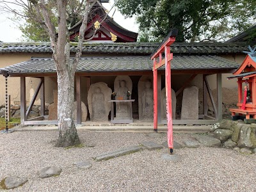
[[[109,100],[108,102],[111,102],[111,124],[131,124],[133,122],[132,118],[132,102],[134,102],[135,99],[129,99],[129,100]],[[124,118],[124,119],[114,119],[114,102],[129,102],[129,110],[130,110],[130,117]]]

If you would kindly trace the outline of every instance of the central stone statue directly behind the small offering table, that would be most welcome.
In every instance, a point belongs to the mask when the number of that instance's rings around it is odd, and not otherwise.
[[[114,83],[116,99],[127,100],[127,92],[132,93],[132,80],[129,76],[117,76]],[[131,99],[131,96],[129,97]],[[116,118],[129,118],[129,102],[116,102]]]

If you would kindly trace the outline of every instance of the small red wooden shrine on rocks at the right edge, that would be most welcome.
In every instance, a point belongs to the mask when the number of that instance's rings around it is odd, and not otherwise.
[[[249,49],[250,52],[244,51],[247,56],[234,72],[234,76],[228,77],[228,79],[238,79],[238,109],[229,109],[232,118],[244,119],[246,124],[256,122],[256,47],[252,49],[249,46]]]

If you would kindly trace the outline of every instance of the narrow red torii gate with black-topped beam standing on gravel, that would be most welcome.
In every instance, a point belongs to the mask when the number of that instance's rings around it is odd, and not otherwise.
[[[173,153],[173,128],[172,128],[172,88],[171,88],[171,60],[173,54],[171,53],[170,45],[175,42],[175,38],[178,34],[177,29],[172,31],[166,36],[164,41],[156,51],[152,53],[151,60],[154,60],[153,77],[154,77],[154,131],[157,132],[157,68],[165,65],[165,88],[166,88],[166,118],[167,118],[167,130],[168,130],[168,147],[170,148],[170,154]],[[163,60],[164,53],[164,60]],[[157,63],[157,58],[159,62]]]

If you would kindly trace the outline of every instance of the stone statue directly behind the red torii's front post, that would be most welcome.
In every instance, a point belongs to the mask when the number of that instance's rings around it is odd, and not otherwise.
[[[176,118],[176,95],[175,91],[172,89],[172,119]],[[165,87],[161,91],[161,118],[166,119],[166,93]]]

